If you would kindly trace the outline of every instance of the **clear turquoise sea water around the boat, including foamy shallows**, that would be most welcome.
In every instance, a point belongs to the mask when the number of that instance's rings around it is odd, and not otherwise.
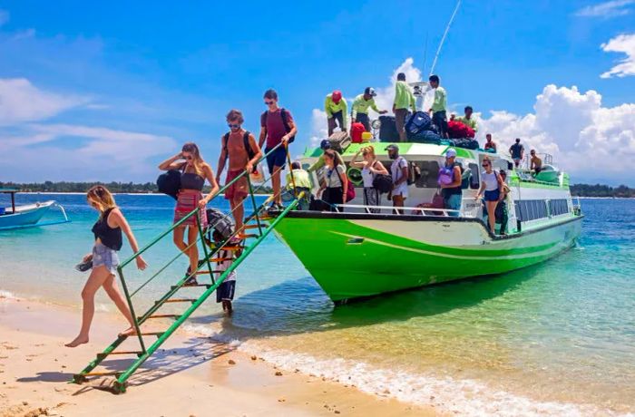
[[[79,305],[87,275],[73,266],[91,249],[96,212],[83,195],[18,199],[56,199],[72,223],[0,232],[0,292]],[[171,225],[168,197],[116,199],[142,245]],[[441,412],[632,413],[635,200],[585,199],[582,209],[578,244],[542,265],[337,308],[270,236],[238,269],[233,317],[223,318],[212,297],[186,328],[288,370]],[[56,216],[51,210],[45,219]],[[147,272],[125,269],[131,289],[176,253],[171,238],[152,247]],[[125,243],[121,257],[130,254]],[[150,305],[186,267],[177,259],[142,288],[135,305]],[[115,314],[106,297],[99,305]]]

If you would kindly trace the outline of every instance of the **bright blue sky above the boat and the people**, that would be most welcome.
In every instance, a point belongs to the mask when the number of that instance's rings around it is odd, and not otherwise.
[[[298,3],[0,0],[4,94],[24,80],[24,101],[39,94],[51,106],[3,123],[0,100],[0,152],[29,155],[0,156],[10,168],[0,180],[153,180],[152,167],[183,141],[198,142],[216,165],[225,113],[241,109],[246,127],[258,131],[262,92],[271,87],[298,121],[299,153],[318,131],[312,111],[327,92],[351,97],[367,85],[386,87],[408,57],[428,73],[454,8],[447,1]],[[575,85],[585,100],[594,90],[601,108],[630,104],[633,74],[600,77],[628,55],[601,44],[635,33],[634,3],[464,1],[435,72],[453,108],[469,102],[484,118],[500,111],[522,120],[548,84]],[[137,140],[145,145],[126,150]]]

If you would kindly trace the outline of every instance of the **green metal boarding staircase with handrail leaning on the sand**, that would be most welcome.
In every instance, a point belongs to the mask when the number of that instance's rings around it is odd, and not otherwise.
[[[276,149],[277,148],[274,148],[273,150],[270,150],[270,152],[273,152]],[[262,159],[264,159],[265,157],[266,155],[263,156]],[[160,236],[158,236],[157,238],[154,238],[154,240],[152,240],[150,244],[146,245],[145,247],[142,247],[137,253],[132,255],[132,257],[126,259],[117,268],[117,272],[122,283],[122,289],[123,289],[124,295],[128,302],[128,306],[130,307],[130,310],[132,312],[132,317],[134,320],[134,328],[136,332],[132,335],[118,335],[117,338],[114,340],[114,342],[112,342],[112,344],[106,347],[102,353],[96,354],[95,359],[90,364],[88,364],[85,368],[83,368],[82,372],[75,373],[73,375],[72,383],[86,383],[92,377],[103,377],[103,376],[110,375],[115,378],[115,381],[112,383],[112,390],[115,393],[125,393],[127,382],[129,378],[132,376],[132,374],[135,373],[139,369],[139,367],[161,347],[161,344],[163,344],[166,340],[168,340],[168,338],[170,338],[170,336],[188,319],[188,317],[190,317],[190,315],[192,315],[192,313],[194,313],[200,307],[200,305],[202,305],[205,302],[205,300],[207,300],[214,293],[214,291],[216,291],[216,289],[220,286],[220,284],[222,284],[222,282],[227,278],[227,276],[230,276],[231,272],[234,271],[237,267],[239,267],[239,265],[247,257],[249,257],[251,252],[253,252],[256,249],[256,247],[258,247],[259,244],[265,238],[267,238],[271,230],[276,228],[276,225],[278,224],[278,222],[282,218],[287,216],[289,211],[293,210],[294,208],[298,206],[299,199],[303,198],[302,194],[295,195],[294,199],[292,199],[288,203],[288,206],[284,210],[269,214],[266,207],[269,201],[273,199],[274,196],[270,196],[269,199],[265,200],[264,203],[257,206],[256,199],[254,197],[254,192],[257,191],[258,189],[254,189],[252,187],[252,184],[249,180],[249,175],[245,171],[239,177],[237,177],[236,179],[233,179],[228,184],[226,184],[223,188],[221,188],[220,191],[214,196],[214,198],[210,200],[210,202],[212,202],[214,199],[219,198],[225,189],[230,187],[230,185],[233,184],[234,181],[237,181],[243,175],[246,176],[249,181],[249,197],[251,200],[251,204],[253,205],[252,213],[247,218],[245,218],[244,228],[240,230],[235,230],[230,238],[225,239],[219,244],[213,245],[211,244],[209,240],[205,238],[206,230],[204,230],[201,227],[200,220],[199,220],[200,209],[196,208],[192,210],[185,218],[182,218],[179,222],[172,225],[171,228],[161,233]],[[262,187],[262,185],[260,187]],[[171,234],[171,231],[174,230],[174,228],[181,226],[181,223],[186,221],[186,219],[190,218],[191,216],[196,217],[198,228],[199,228],[199,237],[195,242],[192,243],[192,245],[198,245],[199,243],[201,243],[203,248],[203,254],[204,254],[202,260],[199,262],[198,269],[194,271],[193,273],[191,273],[190,276],[183,276],[173,286],[170,286],[170,289],[163,296],[161,296],[161,298],[156,300],[154,304],[151,305],[150,308],[148,308],[142,315],[136,315],[134,310],[134,305],[132,303],[132,297],[139,294],[140,290],[142,290],[142,288],[145,287],[147,284],[149,284],[154,278],[156,278],[157,276],[160,276],[161,273],[163,273],[168,267],[170,267],[175,260],[181,257],[184,254],[184,252],[180,252],[175,257],[172,257],[168,263],[160,267],[156,273],[154,273],[149,279],[147,279],[141,286],[139,286],[132,293],[129,291],[126,280],[123,275],[124,268],[130,266],[137,257],[140,257],[148,249],[150,249],[157,243],[161,242],[163,238],[169,237],[169,235]],[[213,226],[215,225],[210,225],[210,227],[213,227]],[[248,229],[252,229],[254,232],[245,234],[244,233],[245,230],[248,230]],[[236,240],[238,240],[240,244],[236,244],[235,243]],[[214,273],[220,273],[220,271],[215,271],[212,268],[213,263],[228,259],[228,258],[219,257],[219,254],[221,253],[221,251],[229,251],[234,254],[239,252],[239,256],[230,257],[231,259],[233,259],[233,262],[230,265],[230,267],[228,267],[227,270],[223,271],[218,277],[218,279],[214,279]],[[205,267],[206,269],[202,269]],[[207,283],[207,284],[197,283],[194,285],[187,284],[191,276],[206,276],[206,275],[210,276],[210,283]],[[200,287],[204,291],[197,297],[179,297],[178,296],[178,293],[181,291],[181,289],[191,288],[191,287]],[[184,311],[182,311],[181,314],[161,314],[160,312],[161,308],[165,305],[181,305],[181,304],[189,305],[187,308],[184,309]],[[146,322],[148,322],[148,320],[160,319],[160,318],[166,318],[166,319],[171,318],[174,321],[167,329],[162,330],[160,332],[146,331],[142,328],[143,325]],[[148,336],[156,337],[156,340],[154,340],[153,343],[146,344],[147,341],[144,339],[144,337],[148,337]],[[118,348],[129,338],[138,338],[139,349],[138,350],[118,350]],[[97,370],[97,367],[100,364],[102,364],[103,360],[105,360],[106,358],[112,357],[114,355],[117,355],[117,356],[122,355],[123,357],[132,356],[133,361],[127,366],[127,368],[122,369],[121,371]]]

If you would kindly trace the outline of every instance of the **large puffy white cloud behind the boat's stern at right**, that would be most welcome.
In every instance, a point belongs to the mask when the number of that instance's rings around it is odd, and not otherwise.
[[[521,138],[525,149],[551,153],[574,180],[615,178],[635,164],[635,103],[602,107],[598,92],[550,84],[536,97],[533,108],[535,112],[525,115],[504,111],[492,112],[489,119],[478,115],[478,139],[483,142],[485,133],[492,133],[504,152],[514,138]]]

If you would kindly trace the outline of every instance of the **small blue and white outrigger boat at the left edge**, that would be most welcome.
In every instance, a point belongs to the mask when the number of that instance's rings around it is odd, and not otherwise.
[[[0,230],[33,228],[35,226],[47,226],[71,221],[66,216],[64,207],[57,204],[54,200],[15,206],[15,194],[18,192],[20,192],[19,189],[0,189],[0,193],[11,195],[11,208],[0,207]],[[60,209],[64,220],[40,222],[44,214],[52,207]]]

